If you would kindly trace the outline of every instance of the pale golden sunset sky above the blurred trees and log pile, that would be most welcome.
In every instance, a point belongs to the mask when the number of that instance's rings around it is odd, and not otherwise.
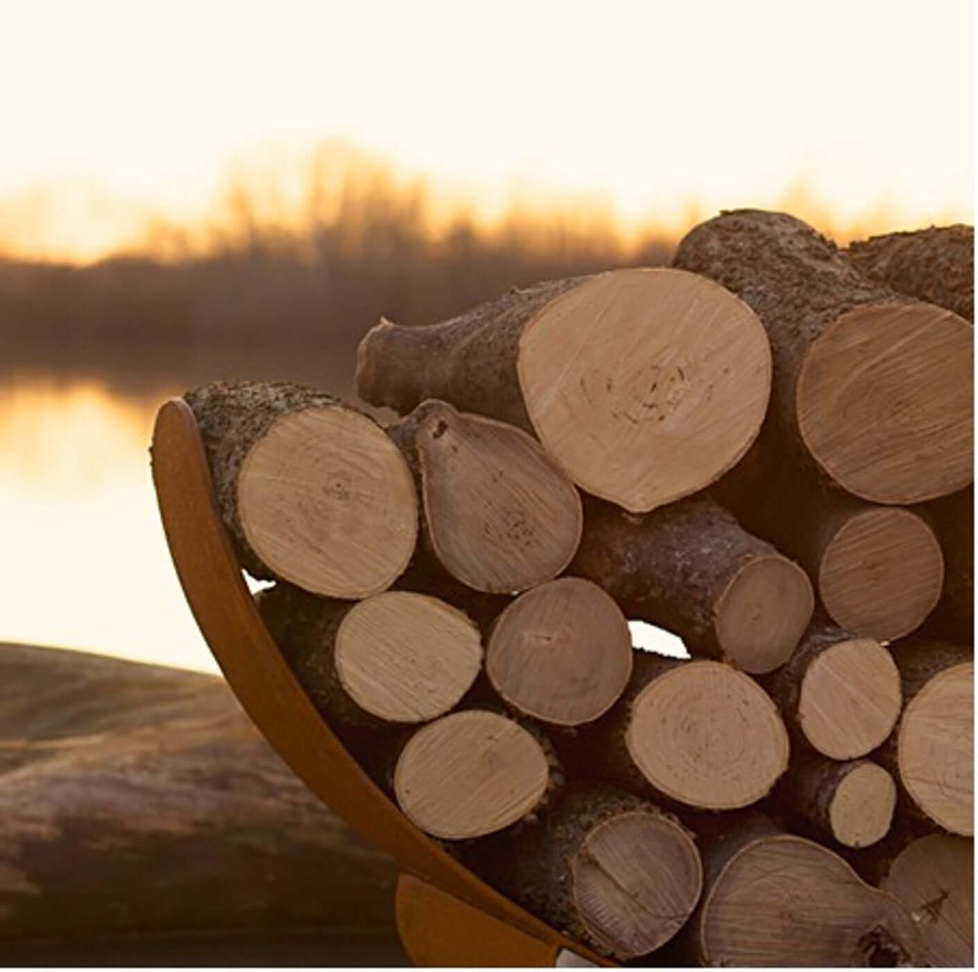
[[[0,0],[0,251],[93,259],[284,211],[324,141],[492,220],[572,205],[670,232],[971,220],[967,0]],[[342,153],[340,153],[342,154]],[[829,224],[829,225],[826,225]]]

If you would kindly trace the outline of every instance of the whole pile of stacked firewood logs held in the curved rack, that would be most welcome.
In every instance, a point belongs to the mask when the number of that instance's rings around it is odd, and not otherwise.
[[[297,679],[485,880],[618,960],[966,965],[971,266],[962,227],[729,212],[669,268],[381,321],[387,427],[186,397]]]

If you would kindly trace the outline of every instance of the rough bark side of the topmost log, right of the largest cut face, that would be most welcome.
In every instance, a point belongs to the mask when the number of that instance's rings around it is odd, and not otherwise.
[[[806,223],[759,209],[724,212],[701,223],[680,242],[673,266],[715,280],[756,311],[775,364],[771,406],[758,441],[774,440],[781,463],[802,463],[814,472],[795,415],[805,353],[846,311],[907,298],[868,280],[845,252]]]

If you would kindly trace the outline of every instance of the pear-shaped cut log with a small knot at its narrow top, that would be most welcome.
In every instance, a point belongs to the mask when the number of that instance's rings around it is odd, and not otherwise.
[[[454,577],[513,594],[570,562],[581,497],[532,436],[436,399],[388,432],[415,470],[426,545]]]

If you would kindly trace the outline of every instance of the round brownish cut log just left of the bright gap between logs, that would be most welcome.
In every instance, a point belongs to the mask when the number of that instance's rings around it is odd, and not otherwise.
[[[523,715],[579,726],[607,712],[632,674],[632,636],[600,587],[563,577],[517,597],[493,626],[486,674]]]

